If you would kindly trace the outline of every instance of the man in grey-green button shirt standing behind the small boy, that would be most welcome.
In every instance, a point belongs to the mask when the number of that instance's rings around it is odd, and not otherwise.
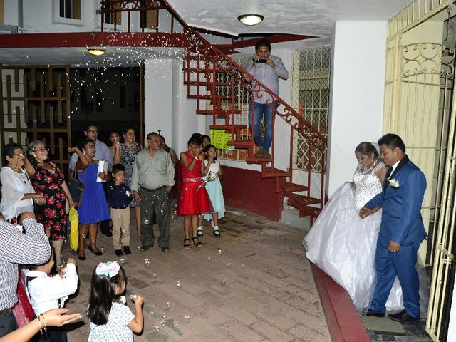
[[[170,249],[170,192],[175,184],[174,165],[170,154],[160,149],[160,135],[147,134],[147,148],[138,153],[133,164],[131,190],[141,207],[141,248],[153,247],[153,213],[157,217],[158,246],[163,252]]]

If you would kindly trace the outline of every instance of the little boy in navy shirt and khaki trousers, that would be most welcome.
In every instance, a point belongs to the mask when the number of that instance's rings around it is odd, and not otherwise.
[[[125,167],[122,164],[113,165],[113,180],[107,187],[108,201],[113,220],[113,246],[118,257],[131,254],[130,251],[130,207],[133,199],[130,187],[125,180]],[[122,248],[123,247],[123,252]]]

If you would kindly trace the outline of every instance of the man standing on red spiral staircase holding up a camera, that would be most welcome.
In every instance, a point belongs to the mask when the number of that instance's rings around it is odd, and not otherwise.
[[[279,95],[279,78],[286,80],[288,71],[281,59],[271,55],[271,43],[266,39],[261,39],[255,45],[255,56],[247,65],[247,73]],[[277,103],[274,98],[260,90],[259,85],[252,81],[253,103],[249,105],[249,127],[253,131],[258,152],[254,157],[270,158],[269,148],[272,142],[272,123]],[[252,118],[253,110],[253,118]],[[264,138],[261,137],[260,120],[264,116]],[[253,124],[253,128],[252,128]]]

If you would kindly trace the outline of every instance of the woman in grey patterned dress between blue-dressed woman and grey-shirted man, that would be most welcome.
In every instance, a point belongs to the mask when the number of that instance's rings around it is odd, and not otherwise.
[[[122,164],[125,167],[125,184],[128,187],[131,186],[131,177],[133,175],[133,164],[135,163],[135,157],[142,150],[142,146],[136,142],[135,128],[128,127],[123,133],[124,142],[115,142],[114,152],[114,164]],[[136,232],[138,236],[141,232],[141,211],[140,204],[136,203],[135,200],[131,201],[130,207],[135,207],[136,216]]]

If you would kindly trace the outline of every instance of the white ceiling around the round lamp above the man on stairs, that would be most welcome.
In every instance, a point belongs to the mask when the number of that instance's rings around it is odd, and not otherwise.
[[[410,0],[168,0],[192,26],[232,35],[292,33],[331,36],[336,20],[387,21]],[[261,14],[264,21],[244,26],[242,14]]]

